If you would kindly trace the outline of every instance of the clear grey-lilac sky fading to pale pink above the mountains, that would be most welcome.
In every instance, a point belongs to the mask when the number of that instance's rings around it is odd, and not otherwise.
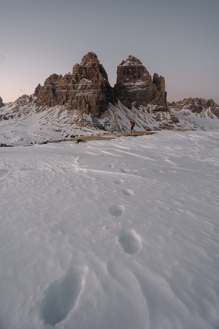
[[[219,0],[0,0],[0,96],[32,94],[89,51],[109,82],[133,55],[164,76],[167,100],[219,104]]]

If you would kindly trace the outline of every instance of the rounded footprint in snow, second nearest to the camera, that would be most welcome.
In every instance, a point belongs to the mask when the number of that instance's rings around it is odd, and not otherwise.
[[[131,228],[120,231],[118,241],[127,254],[135,254],[141,248],[141,237]]]

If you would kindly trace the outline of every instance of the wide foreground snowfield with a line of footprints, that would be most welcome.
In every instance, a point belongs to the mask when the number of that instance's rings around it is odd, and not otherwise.
[[[218,329],[219,134],[0,149],[1,329]]]

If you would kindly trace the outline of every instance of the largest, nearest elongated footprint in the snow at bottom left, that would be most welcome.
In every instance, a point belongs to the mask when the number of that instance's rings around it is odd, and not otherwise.
[[[42,317],[46,323],[55,325],[74,308],[82,290],[85,268],[70,267],[66,275],[52,282],[45,291]]]

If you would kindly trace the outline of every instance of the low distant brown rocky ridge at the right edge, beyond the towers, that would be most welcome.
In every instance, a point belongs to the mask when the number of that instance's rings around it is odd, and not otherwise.
[[[200,117],[208,116],[213,118],[212,114],[219,118],[219,106],[213,99],[206,100],[205,98],[185,98],[183,101],[175,103],[174,111],[186,110],[197,113]]]

